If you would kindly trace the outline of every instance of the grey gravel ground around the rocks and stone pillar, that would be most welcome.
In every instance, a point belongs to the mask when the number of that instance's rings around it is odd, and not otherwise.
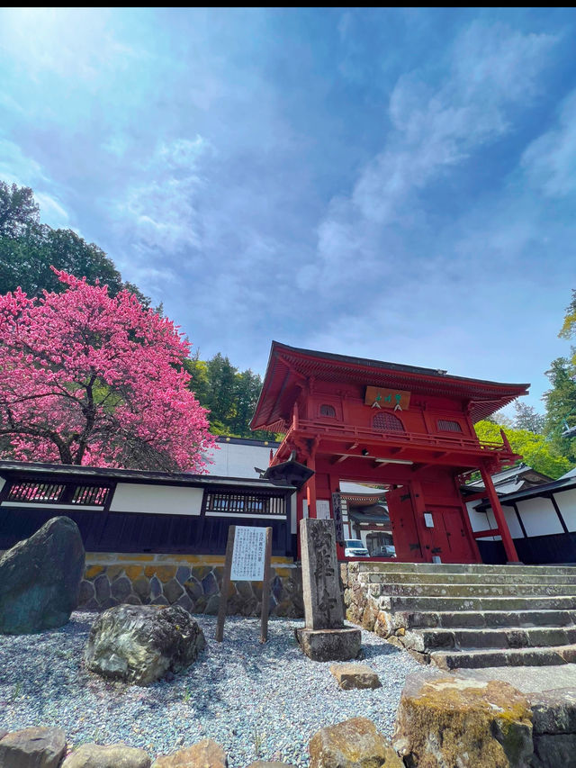
[[[258,619],[229,617],[219,644],[216,619],[194,618],[207,651],[172,682],[148,688],[85,671],[94,614],[74,613],[66,627],[39,635],[0,636],[0,727],[58,726],[69,745],[124,741],[152,757],[210,737],[228,753],[230,768],[257,758],[307,766],[308,742],[320,727],[364,716],[391,736],[404,678],[422,669],[363,632],[365,663],[383,687],[340,691],[330,664],[312,662],[296,645],[293,629],[302,621],[270,619],[268,642],[260,645]]]

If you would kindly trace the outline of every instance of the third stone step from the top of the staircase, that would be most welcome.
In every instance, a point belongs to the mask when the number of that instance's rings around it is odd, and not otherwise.
[[[368,594],[420,597],[570,597],[576,595],[576,584],[369,584]]]

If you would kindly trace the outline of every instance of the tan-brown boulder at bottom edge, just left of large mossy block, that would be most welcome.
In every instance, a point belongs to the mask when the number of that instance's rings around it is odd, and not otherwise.
[[[308,748],[311,768],[404,768],[391,743],[367,718],[320,728]]]

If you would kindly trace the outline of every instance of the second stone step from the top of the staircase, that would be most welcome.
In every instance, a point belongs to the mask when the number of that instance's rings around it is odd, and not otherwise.
[[[364,584],[572,584],[576,585],[576,574],[534,575],[534,574],[404,574],[378,573],[360,574],[359,582]]]

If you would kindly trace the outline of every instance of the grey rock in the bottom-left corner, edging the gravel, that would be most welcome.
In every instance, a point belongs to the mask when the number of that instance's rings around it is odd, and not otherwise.
[[[66,753],[66,736],[59,728],[24,728],[0,741],[2,768],[58,768]]]

